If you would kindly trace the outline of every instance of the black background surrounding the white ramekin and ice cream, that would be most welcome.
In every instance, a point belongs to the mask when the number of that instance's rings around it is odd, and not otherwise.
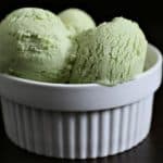
[[[110,21],[115,16],[125,16],[137,21],[149,42],[163,51],[162,4],[156,0],[0,0],[0,20],[17,8],[38,7],[58,13],[66,8],[79,8],[88,12],[97,22]],[[149,137],[139,147],[117,156],[109,156],[88,163],[163,163],[163,87],[155,95],[152,128]],[[143,122],[142,122],[143,123]],[[0,163],[50,163],[71,162],[37,156],[20,150],[10,142],[3,129],[0,111]]]

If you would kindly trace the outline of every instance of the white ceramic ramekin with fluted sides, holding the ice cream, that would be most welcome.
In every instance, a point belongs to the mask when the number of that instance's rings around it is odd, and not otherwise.
[[[142,141],[161,84],[161,52],[149,45],[146,71],[113,87],[48,84],[0,74],[5,131],[38,154],[87,159],[113,155]]]

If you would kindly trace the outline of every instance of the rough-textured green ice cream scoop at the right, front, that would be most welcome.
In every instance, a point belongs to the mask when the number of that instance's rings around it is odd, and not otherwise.
[[[77,36],[71,83],[116,85],[143,71],[147,40],[138,24],[123,17]]]

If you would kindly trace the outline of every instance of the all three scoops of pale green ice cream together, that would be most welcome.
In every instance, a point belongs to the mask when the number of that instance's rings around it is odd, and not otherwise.
[[[115,17],[95,27],[78,9],[59,16],[36,8],[9,14],[0,24],[0,71],[39,82],[108,86],[142,73],[147,40],[137,23]]]

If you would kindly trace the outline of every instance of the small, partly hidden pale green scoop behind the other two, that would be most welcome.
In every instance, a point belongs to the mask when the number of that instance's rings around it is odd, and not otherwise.
[[[78,34],[96,26],[96,23],[91,16],[79,9],[64,10],[59,13],[59,16],[72,34]]]

